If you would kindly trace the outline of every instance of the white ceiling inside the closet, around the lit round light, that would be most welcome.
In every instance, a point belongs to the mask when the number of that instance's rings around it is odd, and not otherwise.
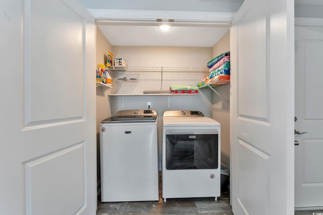
[[[163,32],[157,26],[99,25],[114,46],[213,47],[229,28],[175,26]]]

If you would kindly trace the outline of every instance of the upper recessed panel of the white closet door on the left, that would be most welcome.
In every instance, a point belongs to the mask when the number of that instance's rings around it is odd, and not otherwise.
[[[24,9],[25,126],[82,119],[84,18],[62,1]]]

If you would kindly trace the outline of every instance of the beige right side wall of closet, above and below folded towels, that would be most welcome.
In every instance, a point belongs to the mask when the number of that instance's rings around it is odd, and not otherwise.
[[[213,57],[230,51],[230,30],[213,46]],[[230,101],[230,84],[214,88],[222,97]],[[230,165],[230,104],[213,93],[213,119],[221,124],[221,161]]]

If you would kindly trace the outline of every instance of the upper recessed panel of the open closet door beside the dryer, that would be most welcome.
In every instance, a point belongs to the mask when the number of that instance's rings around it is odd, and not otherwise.
[[[267,27],[264,1],[255,1],[238,28],[238,111],[240,117],[268,121]],[[250,30],[252,29],[252,30]],[[255,90],[256,89],[256,90]]]

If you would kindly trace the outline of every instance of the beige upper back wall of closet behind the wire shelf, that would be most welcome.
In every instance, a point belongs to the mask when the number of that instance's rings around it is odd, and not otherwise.
[[[113,46],[113,54],[127,60],[128,66],[201,66],[212,57],[211,47]],[[205,73],[145,72],[137,74],[136,83],[118,81],[126,74],[111,71],[114,94],[142,94],[145,90],[169,90],[171,85],[196,85]],[[162,82],[161,82],[162,77]],[[129,77],[131,78],[131,77]],[[116,81],[114,81],[116,80]],[[184,104],[183,104],[184,105]],[[144,107],[145,108],[145,107]],[[112,113],[113,114],[113,113]]]

